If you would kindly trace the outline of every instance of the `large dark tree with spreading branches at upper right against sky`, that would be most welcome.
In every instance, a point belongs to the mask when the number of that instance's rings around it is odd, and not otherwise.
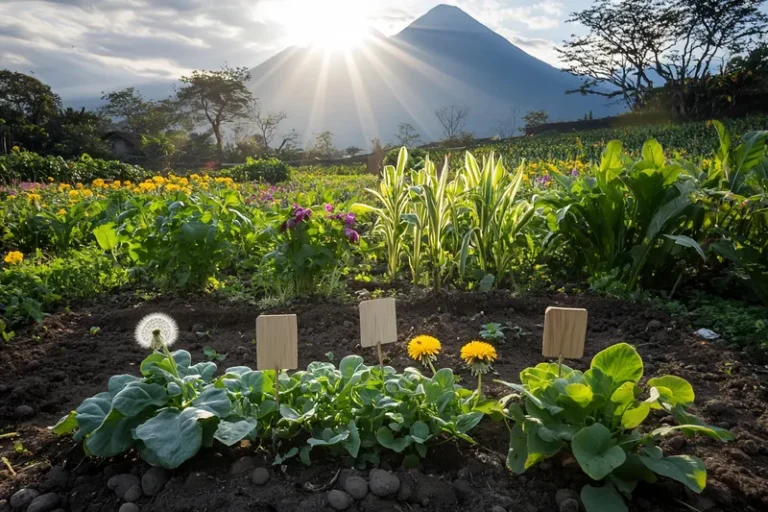
[[[695,116],[715,59],[743,52],[765,34],[765,1],[595,0],[568,20],[587,35],[558,50],[564,71],[583,78],[568,92],[620,98],[639,110],[655,87],[653,70],[678,114]]]

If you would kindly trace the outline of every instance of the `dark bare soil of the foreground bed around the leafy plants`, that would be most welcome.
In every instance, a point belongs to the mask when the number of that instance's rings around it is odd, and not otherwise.
[[[677,483],[661,481],[637,489],[631,510],[768,510],[768,371],[750,364],[743,354],[697,339],[687,326],[676,325],[662,313],[630,302],[562,294],[522,299],[505,293],[403,299],[398,301],[402,343],[386,346],[385,357],[396,368],[412,366],[404,342],[426,333],[443,343],[439,366],[459,369],[461,345],[477,338],[482,324],[500,322],[528,333],[516,337],[512,330],[507,331],[494,367],[494,378],[519,381],[520,370],[542,360],[542,323],[550,305],[589,310],[586,354],[582,360],[570,361],[571,366],[585,369],[591,356],[606,346],[632,343],[643,356],[646,377],[669,373],[688,379],[697,394],[695,412],[736,435],[728,444],[706,438],[668,438],[665,452],[689,453],[705,461],[707,489],[700,496],[693,495]],[[57,438],[46,427],[84,398],[105,390],[111,375],[138,373],[146,352],[133,342],[133,329],[143,315],[155,311],[177,320],[182,333],[174,348],[189,350],[193,360],[205,359],[203,348],[212,347],[227,354],[218,363],[222,369],[255,366],[255,320],[262,311],[211,297],[142,301],[118,296],[108,304],[50,316],[42,326],[19,333],[10,344],[0,346],[0,433],[18,434],[0,439],[0,455],[7,457],[16,472],[12,476],[7,467],[0,470],[0,512],[10,510],[7,499],[24,487],[57,493],[64,511],[120,508],[122,500],[107,488],[107,480],[118,473],[141,475],[147,466],[135,454],[89,459],[70,438]],[[327,360],[329,352],[336,362],[361,353],[370,362],[376,360],[374,351],[360,349],[356,304],[305,303],[281,312],[298,315],[300,367]],[[99,327],[100,332],[90,334],[91,327]],[[463,369],[459,373],[471,386],[474,381],[469,373]],[[494,384],[486,385],[485,390],[495,396],[504,393],[504,388]],[[668,419],[657,413],[650,423],[658,426],[665,421]],[[563,458],[546,461],[522,476],[511,475],[504,468],[506,428],[486,420],[471,434],[477,446],[443,444],[431,450],[428,460],[415,470],[402,469],[397,461],[384,464],[399,475],[403,492],[412,490],[410,496],[382,499],[369,493],[348,510],[490,511],[499,506],[507,511],[557,511],[558,489],[578,491],[588,483],[573,460]],[[254,457],[247,464],[238,462],[241,466],[269,468],[269,483],[251,483],[251,471],[233,474],[233,464],[241,457]],[[254,448],[203,451],[171,472],[160,494],[143,497],[137,505],[142,511],[163,512],[332,510],[327,491],[339,488],[347,471],[339,473],[343,468],[332,460],[304,468],[298,463],[273,467],[272,459]],[[367,476],[367,471],[361,475]]]

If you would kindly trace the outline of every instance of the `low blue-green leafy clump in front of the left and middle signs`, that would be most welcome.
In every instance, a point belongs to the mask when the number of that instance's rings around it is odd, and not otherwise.
[[[216,377],[215,363],[191,363],[184,350],[155,352],[141,363],[141,377],[112,377],[108,391],[87,398],[53,431],[74,432],[94,456],[135,448],[168,469],[214,440],[233,446],[243,439],[275,442],[276,463],[298,455],[310,464],[313,450],[328,450],[376,465],[387,451],[418,463],[439,436],[471,442],[467,433],[483,417],[472,411],[474,393],[448,368],[428,378],[413,368],[366,366],[359,356],[338,369],[314,362],[280,374],[278,403],[273,371],[236,366]]]

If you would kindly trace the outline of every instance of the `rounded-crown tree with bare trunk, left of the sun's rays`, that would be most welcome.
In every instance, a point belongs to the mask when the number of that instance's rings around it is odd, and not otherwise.
[[[219,159],[224,148],[222,127],[250,113],[254,102],[246,85],[250,79],[247,68],[229,67],[220,71],[193,71],[181,77],[184,85],[176,96],[196,122],[211,125]]]

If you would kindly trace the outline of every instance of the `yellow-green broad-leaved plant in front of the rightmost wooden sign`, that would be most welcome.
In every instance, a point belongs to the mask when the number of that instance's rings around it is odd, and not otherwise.
[[[602,486],[586,485],[581,499],[587,512],[626,511],[640,481],[657,475],[677,480],[694,492],[706,485],[706,468],[698,457],[666,456],[656,441],[673,432],[702,434],[727,441],[726,430],[704,425],[687,407],[693,387],[680,377],[665,375],[638,382],[643,361],[634,347],[619,343],[595,355],[586,372],[565,365],[541,363],[520,373],[522,384],[504,382],[516,393],[507,397],[506,411],[514,420],[507,466],[523,473],[563,450]],[[640,427],[652,410],[664,410],[679,423],[651,431]]]

